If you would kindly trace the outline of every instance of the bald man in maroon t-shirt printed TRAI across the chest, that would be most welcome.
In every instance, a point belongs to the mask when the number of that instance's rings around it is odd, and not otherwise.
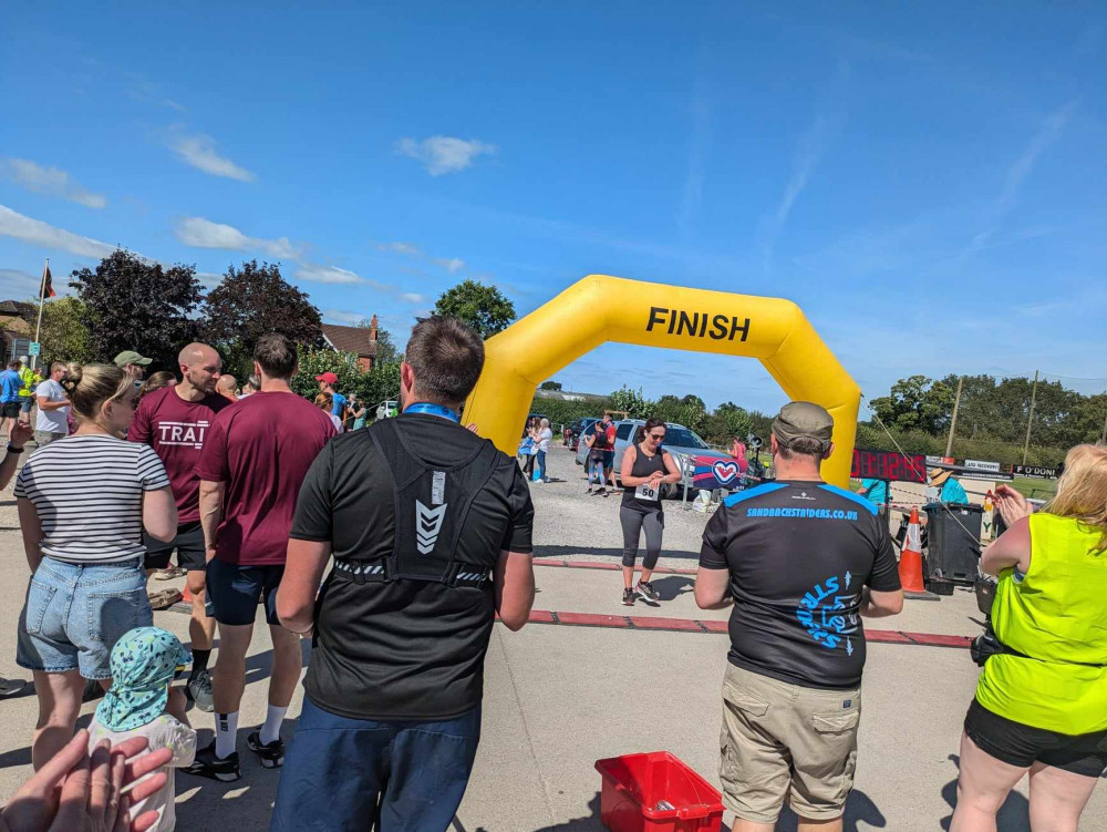
[[[162,543],[144,535],[146,569],[164,569],[169,555],[177,551],[177,565],[187,572],[188,592],[193,594],[193,617],[188,623],[193,668],[185,690],[200,710],[211,710],[211,675],[208,659],[215,620],[205,609],[204,530],[200,528],[200,480],[196,475],[204,440],[215,414],[230,405],[215,392],[223,371],[219,353],[206,343],[189,343],[177,356],[180,383],[164,387],[143,397],[127,430],[127,439],[154,449],[169,475],[177,502],[177,536]]]

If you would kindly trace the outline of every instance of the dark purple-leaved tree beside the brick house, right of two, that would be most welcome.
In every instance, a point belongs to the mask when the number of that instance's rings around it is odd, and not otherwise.
[[[319,310],[308,296],[280,274],[280,264],[257,260],[227,267],[220,284],[204,302],[205,339],[219,347],[230,372],[241,376],[252,366],[261,336],[280,332],[297,343],[319,343]]]

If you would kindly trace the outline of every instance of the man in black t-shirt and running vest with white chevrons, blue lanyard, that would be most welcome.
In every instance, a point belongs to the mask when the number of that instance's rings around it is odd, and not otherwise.
[[[335,438],[308,472],[277,612],[314,640],[272,830],[444,831],[462,802],[495,615],[517,630],[535,597],[527,483],[458,423],[483,363],[464,323],[422,321],[403,412]]]

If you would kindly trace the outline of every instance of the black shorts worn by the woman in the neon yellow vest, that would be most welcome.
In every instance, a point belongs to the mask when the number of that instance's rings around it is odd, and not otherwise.
[[[973,699],[965,715],[965,733],[981,751],[1021,769],[1042,762],[1085,777],[1107,771],[1107,731],[1070,736],[1032,728],[993,713]]]

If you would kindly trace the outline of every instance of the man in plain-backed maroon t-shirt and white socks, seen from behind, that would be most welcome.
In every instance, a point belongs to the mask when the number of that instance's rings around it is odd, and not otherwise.
[[[335,431],[327,413],[292,392],[289,379],[296,369],[296,345],[288,338],[268,335],[258,341],[254,371],[261,389],[215,420],[196,463],[219,661],[215,741],[185,771],[221,782],[241,777],[235,739],[259,600],[265,602],[273,664],[266,722],[247,743],[267,769],[283,762],[280,727],[300,679],[300,636],[280,626],[277,587],[300,485]]]

